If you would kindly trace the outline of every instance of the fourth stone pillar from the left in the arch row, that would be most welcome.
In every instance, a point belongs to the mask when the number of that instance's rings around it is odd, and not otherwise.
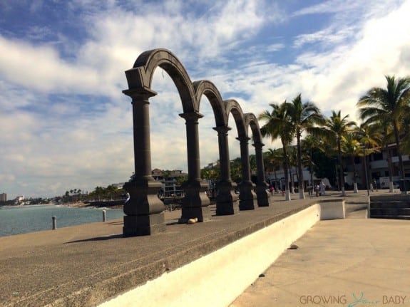
[[[240,141],[240,159],[242,161],[242,182],[238,184],[239,188],[239,209],[253,210],[255,209],[256,194],[253,191],[254,184],[250,180],[250,163],[249,163],[249,148],[247,136],[237,137]]]

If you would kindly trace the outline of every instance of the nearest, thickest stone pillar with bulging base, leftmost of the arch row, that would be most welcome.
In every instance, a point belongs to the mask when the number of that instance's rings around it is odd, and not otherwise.
[[[151,176],[149,98],[150,90],[124,90],[133,101],[135,176],[124,184],[130,198],[124,204],[124,236],[144,236],[165,231],[163,202],[158,198],[161,183]]]

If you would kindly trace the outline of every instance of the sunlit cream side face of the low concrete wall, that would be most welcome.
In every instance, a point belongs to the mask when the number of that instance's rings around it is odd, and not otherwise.
[[[320,211],[314,204],[100,306],[227,306],[319,220]]]

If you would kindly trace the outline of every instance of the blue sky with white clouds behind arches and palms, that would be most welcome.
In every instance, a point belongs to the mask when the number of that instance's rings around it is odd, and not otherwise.
[[[410,75],[409,16],[409,0],[1,1],[0,192],[52,197],[127,181],[124,71],[153,48],[172,51],[192,80],[211,80],[246,113],[302,93],[326,115],[342,110],[357,120],[355,104],[369,88],[384,86],[385,75]],[[153,168],[186,171],[182,105],[160,68],[153,89]],[[200,112],[205,166],[218,159],[206,98]],[[230,126],[235,158],[232,118]]]

